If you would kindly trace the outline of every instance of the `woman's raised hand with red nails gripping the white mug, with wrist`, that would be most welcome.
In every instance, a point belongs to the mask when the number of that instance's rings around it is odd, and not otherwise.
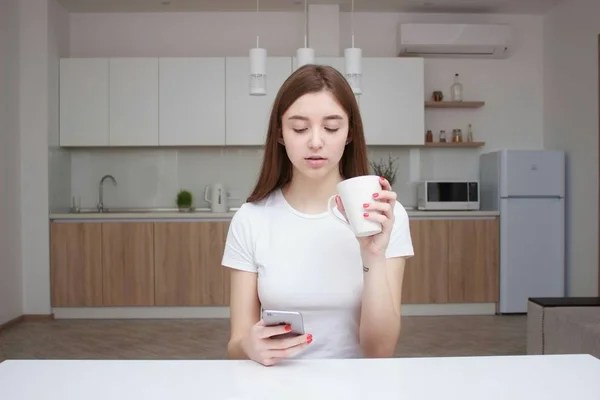
[[[360,244],[360,251],[363,259],[385,258],[385,252],[390,242],[392,228],[394,227],[394,206],[396,204],[397,196],[396,193],[392,191],[392,186],[387,179],[381,177],[380,183],[382,190],[377,193],[373,193],[373,201],[365,204],[363,213],[365,215],[365,219],[380,222],[383,230],[380,233],[372,236],[357,238]],[[342,213],[344,218],[348,220],[344,210],[344,205],[342,204],[342,199],[337,196],[335,201],[338,210]]]

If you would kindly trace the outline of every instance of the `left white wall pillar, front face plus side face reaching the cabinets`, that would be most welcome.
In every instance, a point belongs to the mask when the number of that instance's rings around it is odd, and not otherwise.
[[[70,155],[54,149],[58,60],[68,55],[69,16],[55,0],[20,2],[19,11],[23,313],[49,314],[48,212],[70,201]]]

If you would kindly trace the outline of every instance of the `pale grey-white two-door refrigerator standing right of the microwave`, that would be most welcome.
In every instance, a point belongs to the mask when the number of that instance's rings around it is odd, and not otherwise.
[[[565,158],[555,150],[480,155],[482,210],[500,211],[499,312],[565,295]]]

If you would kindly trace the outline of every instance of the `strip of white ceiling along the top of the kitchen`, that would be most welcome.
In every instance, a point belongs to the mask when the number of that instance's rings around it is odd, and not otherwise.
[[[254,0],[57,0],[70,12],[198,12],[253,11]],[[355,11],[543,14],[562,0],[354,0]],[[163,4],[166,3],[166,4]],[[339,4],[349,11],[351,0],[308,0],[308,4]],[[260,0],[261,11],[302,11],[304,0]]]

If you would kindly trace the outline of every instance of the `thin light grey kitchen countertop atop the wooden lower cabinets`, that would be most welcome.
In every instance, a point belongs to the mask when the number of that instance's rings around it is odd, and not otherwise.
[[[122,209],[99,213],[92,210],[83,212],[51,213],[50,220],[223,220],[231,219],[237,209],[229,212],[213,213],[209,209],[198,209],[192,212],[179,212],[175,209]],[[406,209],[409,218],[481,218],[496,217],[498,211],[420,211]]]

